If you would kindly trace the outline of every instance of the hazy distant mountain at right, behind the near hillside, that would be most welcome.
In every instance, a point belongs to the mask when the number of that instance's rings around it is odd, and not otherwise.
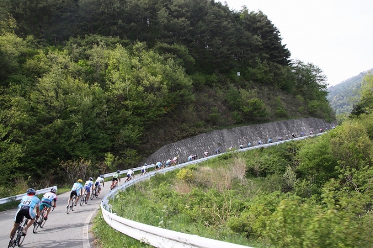
[[[351,112],[354,103],[356,103],[356,101],[359,99],[359,90],[363,77],[366,75],[366,73],[372,71],[373,68],[360,72],[358,76],[349,78],[328,88],[329,94],[327,98],[337,114]]]

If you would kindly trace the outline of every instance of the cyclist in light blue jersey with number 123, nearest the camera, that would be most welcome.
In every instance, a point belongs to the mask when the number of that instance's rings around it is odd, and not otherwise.
[[[40,200],[35,195],[36,191],[33,188],[27,190],[27,195],[23,196],[21,199],[20,204],[18,205],[18,210],[14,216],[14,225],[12,230],[10,231],[10,238],[14,235],[15,231],[17,230],[19,223],[22,221],[22,218],[25,216],[30,221],[27,222],[27,226],[24,230],[22,230],[22,235],[26,236],[27,230],[31,225],[34,224],[35,216],[39,217],[40,210]],[[34,208],[36,207],[36,215],[34,213]]]

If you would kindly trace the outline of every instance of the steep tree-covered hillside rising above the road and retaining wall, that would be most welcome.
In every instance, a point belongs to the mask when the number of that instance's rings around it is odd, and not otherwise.
[[[247,7],[1,1],[2,196],[127,169],[214,129],[334,119],[322,69],[289,58]]]

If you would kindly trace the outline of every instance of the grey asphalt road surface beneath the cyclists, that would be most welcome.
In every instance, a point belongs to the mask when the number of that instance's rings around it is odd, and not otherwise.
[[[21,247],[95,247],[88,232],[89,225],[92,216],[100,208],[102,198],[109,192],[110,185],[111,181],[105,182],[98,198],[88,200],[83,206],[78,204],[75,211],[70,211],[69,214],[66,214],[66,205],[70,192],[59,194],[57,207],[49,214],[44,227],[39,227],[37,232],[33,233],[31,226]],[[0,212],[0,247],[8,247],[15,213],[16,209]]]

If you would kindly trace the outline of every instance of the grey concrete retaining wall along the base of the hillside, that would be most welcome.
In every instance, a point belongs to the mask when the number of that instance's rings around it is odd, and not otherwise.
[[[252,145],[258,145],[258,140],[261,139],[264,143],[267,143],[269,138],[272,138],[275,142],[278,136],[285,139],[286,135],[291,137],[291,134],[295,133],[298,137],[301,132],[310,135],[311,130],[316,134],[320,132],[321,128],[324,130],[326,128],[331,129],[332,126],[336,126],[336,123],[329,123],[316,118],[302,118],[214,130],[165,145],[147,158],[145,162],[148,164],[156,163],[159,160],[165,162],[175,156],[179,157],[180,162],[186,162],[191,154],[197,154],[201,158],[205,151],[212,155],[218,147],[220,147],[221,152],[226,152],[230,146],[239,147],[243,144],[246,147],[248,142],[251,142]]]

